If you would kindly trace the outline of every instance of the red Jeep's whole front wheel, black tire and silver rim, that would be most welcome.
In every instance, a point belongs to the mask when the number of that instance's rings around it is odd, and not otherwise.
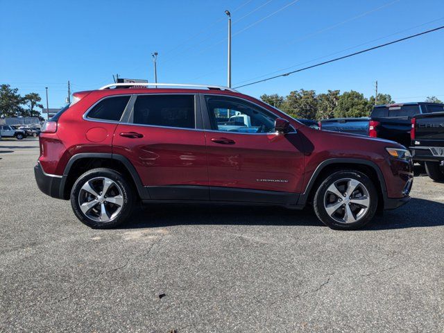
[[[359,171],[338,171],[325,178],[314,195],[314,212],[332,229],[352,230],[366,225],[375,215],[375,185]]]

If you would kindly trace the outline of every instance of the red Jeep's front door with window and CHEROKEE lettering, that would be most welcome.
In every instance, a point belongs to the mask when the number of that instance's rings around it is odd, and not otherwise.
[[[211,200],[296,204],[304,173],[298,134],[275,133],[277,116],[244,99],[207,95],[203,104],[212,126],[205,131]]]

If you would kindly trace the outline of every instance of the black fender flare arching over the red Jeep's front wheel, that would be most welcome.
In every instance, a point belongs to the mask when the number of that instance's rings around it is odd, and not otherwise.
[[[383,196],[382,200],[384,200],[385,202],[387,199],[386,182],[381,169],[379,169],[379,167],[375,162],[369,160],[362,160],[359,158],[330,158],[328,160],[323,161],[321,164],[318,165],[318,167],[316,167],[316,170],[311,175],[311,178],[309,180],[307,187],[305,188],[304,193],[302,193],[299,197],[298,205],[305,205],[307,203],[311,189],[313,188],[314,183],[318,179],[319,174],[323,171],[323,169],[325,169],[325,167],[332,164],[348,164],[348,163],[365,165],[366,167],[372,168],[376,172],[379,184],[381,185],[382,196]]]

